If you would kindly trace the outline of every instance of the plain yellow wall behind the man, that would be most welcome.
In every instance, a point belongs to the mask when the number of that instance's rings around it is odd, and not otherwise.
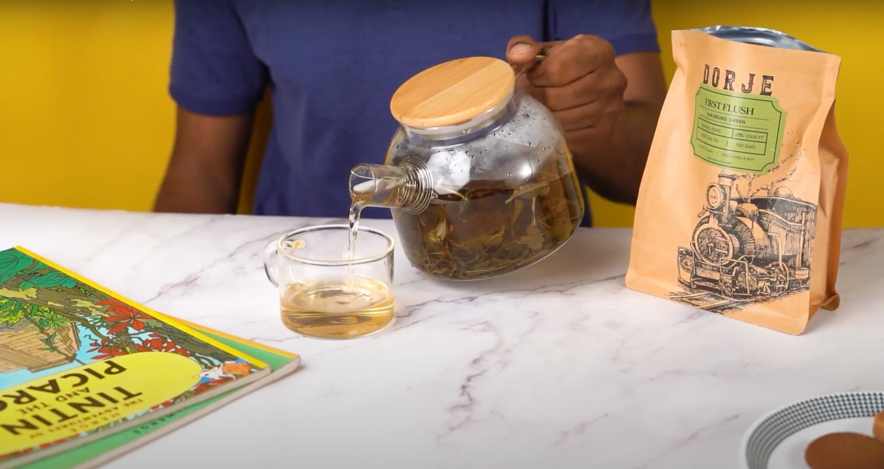
[[[884,2],[840,5],[653,2],[667,77],[669,31],[677,28],[773,27],[840,55],[836,112],[850,150],[845,226],[884,226],[881,130],[867,115],[884,102],[875,45]],[[172,143],[171,33],[171,0],[0,2],[0,202],[150,210]],[[591,200],[599,226],[631,225],[629,207]]]

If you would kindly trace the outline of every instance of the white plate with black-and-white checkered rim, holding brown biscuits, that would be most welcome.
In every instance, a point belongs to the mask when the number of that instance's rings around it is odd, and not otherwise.
[[[740,444],[743,469],[806,469],[804,449],[833,432],[872,435],[884,392],[828,394],[784,405],[756,420]]]

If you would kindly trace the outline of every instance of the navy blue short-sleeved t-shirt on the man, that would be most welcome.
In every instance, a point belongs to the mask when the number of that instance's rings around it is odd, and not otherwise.
[[[618,55],[659,50],[650,0],[176,0],[169,90],[189,111],[230,115],[252,111],[269,85],[254,212],[340,218],[350,169],[384,161],[403,81],[454,58],[506,59],[514,35],[579,34]]]

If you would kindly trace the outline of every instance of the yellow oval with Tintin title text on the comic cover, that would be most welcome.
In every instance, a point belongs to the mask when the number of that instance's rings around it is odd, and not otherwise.
[[[0,395],[0,455],[126,420],[181,396],[202,367],[177,353],[121,355],[6,388]]]

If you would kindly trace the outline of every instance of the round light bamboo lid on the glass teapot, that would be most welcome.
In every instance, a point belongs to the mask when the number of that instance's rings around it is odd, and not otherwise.
[[[493,109],[513,92],[513,68],[491,57],[458,58],[417,73],[393,94],[393,118],[408,127],[445,127]]]

